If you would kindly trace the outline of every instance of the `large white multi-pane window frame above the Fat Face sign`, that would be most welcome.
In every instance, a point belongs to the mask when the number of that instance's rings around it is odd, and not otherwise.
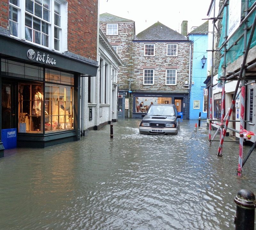
[[[33,13],[31,11],[27,11],[29,10],[27,8],[26,10],[26,4],[23,3],[23,1],[18,0],[18,6],[14,5],[12,3],[10,3],[11,0],[9,0],[9,5],[18,9],[18,22],[17,22],[17,36],[13,35],[11,33],[11,36],[13,37],[17,37],[20,40],[24,40],[28,43],[34,44],[36,46],[42,47],[44,49],[49,49],[49,50],[54,50],[57,52],[63,52],[65,50],[67,50],[67,17],[65,17],[65,15],[67,15],[67,2],[66,1],[62,1],[62,0],[49,0],[49,11],[48,11],[48,16],[47,13],[44,14],[44,12],[46,12],[46,4],[44,4],[44,2],[42,1],[42,5],[38,4],[36,0],[31,0],[31,3],[33,3]],[[42,11],[41,15],[38,14],[39,11],[36,11],[36,8],[34,7],[35,4],[37,5],[37,7],[42,7]],[[55,11],[54,11],[54,6],[55,4],[58,4],[60,6],[60,16],[61,18],[58,18],[60,20],[60,23],[58,25],[55,25],[54,23],[54,15],[55,15]],[[27,6],[28,7],[28,6]],[[37,13],[36,13],[37,12]],[[11,13],[11,7],[9,8],[9,15]],[[38,14],[38,16],[37,16]],[[45,18],[46,15],[46,18]],[[31,25],[26,25],[26,16],[28,16],[28,20],[27,23],[29,23],[29,18],[31,18]],[[47,17],[49,18],[49,20],[47,19]],[[37,21],[39,23],[40,21],[40,31],[37,30],[35,28],[35,25],[33,26],[33,21]],[[9,19],[9,24],[11,25],[11,21],[13,21],[12,19]],[[44,25],[47,25],[47,28],[44,27]],[[31,27],[30,27],[31,26]],[[39,26],[39,24],[38,24]],[[55,34],[54,34],[54,29],[58,28],[59,29],[59,49],[55,49],[56,47],[54,46],[55,43]],[[12,30],[12,28],[11,28]],[[47,31],[45,33],[45,31]],[[27,31],[27,32],[26,32]],[[48,34],[47,34],[48,33]],[[33,40],[33,37],[35,37],[34,34],[40,35],[40,42],[36,42],[35,40]],[[46,35],[44,35],[46,34]],[[30,35],[28,37],[26,37],[27,35]],[[30,39],[28,39],[30,37]],[[43,39],[42,39],[43,37]],[[26,39],[27,38],[27,39]],[[31,41],[30,41],[31,40]],[[44,42],[46,41],[46,42]]]

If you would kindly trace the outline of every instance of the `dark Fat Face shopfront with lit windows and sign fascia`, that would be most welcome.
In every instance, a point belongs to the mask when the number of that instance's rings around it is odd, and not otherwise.
[[[5,36],[0,36],[0,58],[0,150],[79,140],[80,76],[96,76],[97,62]],[[4,135],[11,134],[15,143],[8,146]]]

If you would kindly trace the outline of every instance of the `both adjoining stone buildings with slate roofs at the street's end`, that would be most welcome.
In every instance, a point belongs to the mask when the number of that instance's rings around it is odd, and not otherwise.
[[[116,34],[108,35],[107,27],[115,24]],[[100,15],[100,29],[117,45],[124,63],[118,77],[120,117],[141,118],[152,102],[175,104],[187,119],[192,44],[160,22],[137,35],[134,25],[132,20]]]

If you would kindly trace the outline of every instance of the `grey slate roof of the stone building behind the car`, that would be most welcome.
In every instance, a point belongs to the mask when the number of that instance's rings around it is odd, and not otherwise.
[[[133,41],[188,41],[188,39],[158,21],[135,35]]]

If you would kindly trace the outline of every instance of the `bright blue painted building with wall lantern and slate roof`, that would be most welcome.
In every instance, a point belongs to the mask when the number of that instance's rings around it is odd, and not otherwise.
[[[195,120],[207,117],[207,90],[204,81],[207,73],[207,49],[208,49],[208,24],[206,21],[201,26],[188,33],[188,38],[194,44],[192,55],[192,79],[189,100],[189,119]],[[202,63],[205,59],[205,65]]]

